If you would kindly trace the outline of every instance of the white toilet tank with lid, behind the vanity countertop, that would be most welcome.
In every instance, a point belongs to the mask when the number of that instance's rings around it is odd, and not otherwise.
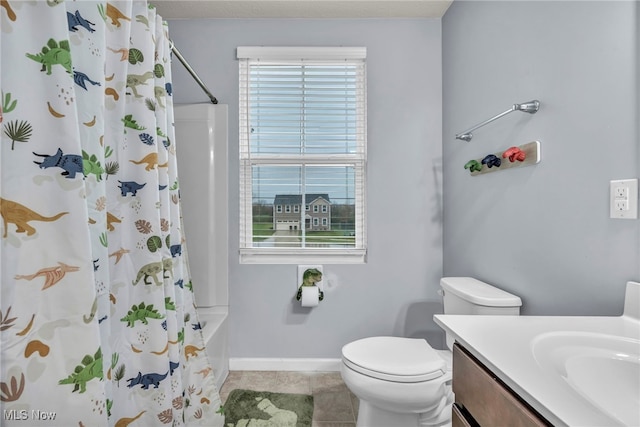
[[[445,314],[520,314],[520,297],[472,277],[443,277],[440,286]]]

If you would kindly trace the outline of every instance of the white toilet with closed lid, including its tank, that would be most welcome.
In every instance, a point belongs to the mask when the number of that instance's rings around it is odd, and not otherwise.
[[[445,314],[519,315],[519,297],[471,277],[440,280]],[[371,337],[342,348],[340,373],[360,399],[357,427],[451,423],[453,339],[434,350],[424,339]]]

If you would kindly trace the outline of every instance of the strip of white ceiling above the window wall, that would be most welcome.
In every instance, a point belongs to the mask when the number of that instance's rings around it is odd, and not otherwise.
[[[164,19],[441,18],[453,0],[156,0]]]

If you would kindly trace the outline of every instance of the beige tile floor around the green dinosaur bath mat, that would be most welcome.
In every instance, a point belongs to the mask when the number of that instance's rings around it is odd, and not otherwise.
[[[224,404],[236,388],[313,395],[312,427],[355,427],[358,398],[340,372],[231,371],[220,389]]]

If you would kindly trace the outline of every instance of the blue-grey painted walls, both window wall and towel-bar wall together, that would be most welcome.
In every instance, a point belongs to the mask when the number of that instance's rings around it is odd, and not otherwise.
[[[526,314],[619,314],[625,282],[640,280],[640,220],[609,219],[608,188],[640,176],[639,19],[635,2],[456,0],[441,21],[171,21],[180,51],[229,104],[231,356],[338,357],[376,334],[437,345],[443,274],[521,295]],[[369,263],[325,266],[327,300],[311,312],[292,300],[294,266],[237,262],[239,45],[368,49]],[[176,102],[207,101],[173,70]],[[455,140],[534,98],[537,114]],[[537,166],[463,169],[531,140],[542,144]]]

